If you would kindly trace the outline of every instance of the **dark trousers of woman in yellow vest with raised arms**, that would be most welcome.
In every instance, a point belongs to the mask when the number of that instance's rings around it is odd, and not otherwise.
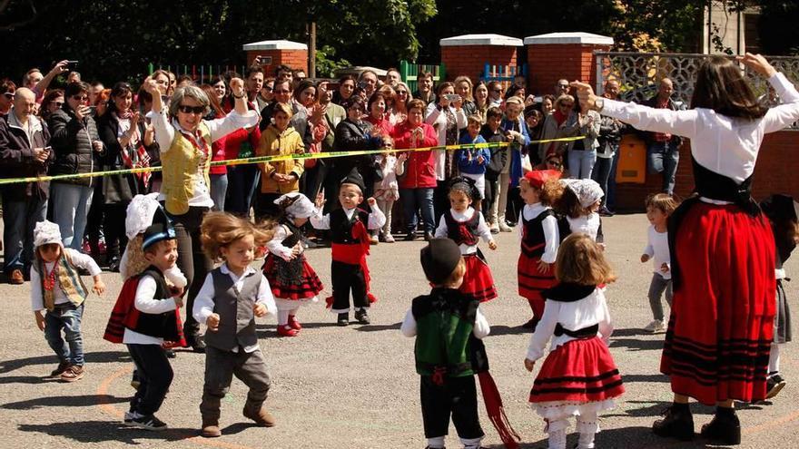
[[[191,346],[196,344],[200,333],[200,324],[192,316],[194,298],[200,293],[202,283],[205,282],[205,277],[213,266],[211,259],[208,259],[202,252],[202,242],[200,241],[202,217],[209,210],[209,208],[192,206],[188,212],[182,215],[170,214],[175,229],[175,238],[178,240],[178,268],[181,268],[189,286],[183,334],[186,337],[186,342]]]

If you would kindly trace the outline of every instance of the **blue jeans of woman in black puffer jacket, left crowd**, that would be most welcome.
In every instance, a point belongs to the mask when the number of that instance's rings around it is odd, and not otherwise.
[[[64,247],[81,250],[93,195],[94,187],[64,182],[50,184],[53,220],[61,230]]]

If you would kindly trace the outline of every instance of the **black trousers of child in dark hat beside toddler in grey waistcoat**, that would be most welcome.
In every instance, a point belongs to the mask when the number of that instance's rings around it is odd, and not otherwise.
[[[161,408],[163,398],[172,385],[173,371],[160,345],[127,345],[136,373],[139,389],[131,399],[131,412],[153,415]]]

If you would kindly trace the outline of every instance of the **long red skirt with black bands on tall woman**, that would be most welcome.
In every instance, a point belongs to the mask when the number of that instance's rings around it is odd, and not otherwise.
[[[774,237],[763,214],[698,202],[676,232],[682,281],[660,371],[706,404],[764,399],[774,336]]]

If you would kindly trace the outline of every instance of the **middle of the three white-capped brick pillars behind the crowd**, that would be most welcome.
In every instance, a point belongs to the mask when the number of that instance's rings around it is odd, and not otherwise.
[[[516,65],[518,47],[522,40],[499,34],[465,34],[439,41],[441,63],[447,68],[447,80],[460,75],[477,83],[486,63]]]

